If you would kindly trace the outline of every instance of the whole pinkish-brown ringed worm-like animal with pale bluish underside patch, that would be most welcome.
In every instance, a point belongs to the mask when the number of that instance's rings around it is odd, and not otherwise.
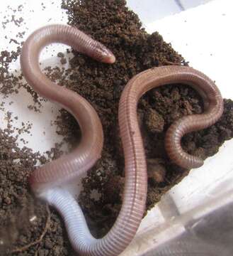
[[[166,148],[178,164],[195,166],[193,156],[186,156],[180,148],[182,135],[191,130],[206,127],[222,114],[222,97],[217,87],[202,73],[186,67],[161,67],[136,75],[125,87],[119,105],[120,136],[125,154],[125,190],[123,206],[108,234],[101,239],[93,238],[86,225],[84,215],[74,198],[59,185],[79,176],[95,164],[101,156],[103,132],[96,111],[83,97],[64,87],[59,87],[40,71],[40,50],[48,43],[60,42],[86,53],[97,60],[113,63],[115,57],[107,48],[86,36],[76,28],[52,25],[40,28],[25,41],[21,53],[21,67],[28,83],[49,100],[57,102],[71,112],[81,127],[82,139],[71,154],[40,166],[30,176],[33,191],[55,206],[64,218],[72,246],[81,255],[119,255],[130,243],[144,214],[147,197],[147,166],[142,137],[137,123],[137,102],[147,90],[169,83],[186,83],[198,88],[208,100],[205,119],[201,126],[191,122],[201,120],[182,119],[184,126],[177,123],[169,129]],[[187,117],[189,118],[189,117]],[[204,124],[205,123],[205,124]],[[176,151],[176,152],[174,152]],[[181,159],[179,158],[181,154]],[[199,165],[199,162],[198,164]]]

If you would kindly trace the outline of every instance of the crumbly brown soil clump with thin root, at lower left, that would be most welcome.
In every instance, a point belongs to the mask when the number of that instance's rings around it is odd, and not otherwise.
[[[42,156],[26,146],[19,148],[18,136],[28,134],[30,124],[16,129],[13,118],[18,119],[8,112],[7,128],[0,129],[0,255],[47,255],[50,249],[54,255],[69,255],[62,222],[48,206],[35,200],[28,186],[35,166],[59,157],[61,152],[55,148]]]

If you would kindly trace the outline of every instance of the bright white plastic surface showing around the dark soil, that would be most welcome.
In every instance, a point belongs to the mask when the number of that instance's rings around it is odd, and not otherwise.
[[[64,12],[61,11],[59,3],[56,3],[56,1],[55,4],[51,4],[53,10],[52,20],[50,20],[51,11],[48,7],[52,1],[46,1],[47,7],[44,10],[41,6],[42,1],[15,0],[11,4],[18,6],[22,2],[26,3],[24,4],[23,14],[21,14],[24,18],[27,17],[25,26],[28,27],[28,30],[25,33],[25,38],[35,28],[42,25],[55,22],[61,23],[62,16],[64,17],[62,23],[67,22]],[[1,0],[0,18],[3,18],[6,14],[3,10],[11,13],[11,10],[7,11],[7,5],[8,1]],[[134,9],[137,6],[131,5],[131,7]],[[148,11],[148,15],[152,16],[153,9],[147,9],[146,3],[144,3],[143,8]],[[30,10],[34,10],[34,13]],[[143,9],[137,9],[137,11],[143,12]],[[203,71],[212,80],[216,81],[223,97],[233,99],[231,63],[233,59],[233,37],[230,26],[232,23],[232,0],[215,0],[159,21],[144,22],[144,26],[149,32],[159,31],[165,41],[171,42],[172,46],[186,60],[190,61],[190,65],[193,68]],[[23,27],[25,28],[25,26]],[[6,31],[9,33],[8,38],[14,38],[15,29],[15,26],[11,26],[10,23],[6,25],[6,30],[0,28],[1,50],[6,47],[8,49],[10,47],[16,48],[16,45],[9,45],[8,40],[4,39]],[[17,28],[17,31],[23,31],[23,28]],[[50,51],[44,52],[42,55],[42,61],[47,59],[44,65],[47,65],[47,63],[58,65],[57,57],[51,58],[52,53],[56,56],[57,52],[64,51],[65,48],[67,47],[50,47]],[[19,68],[19,63],[12,65],[12,70],[18,70]],[[2,101],[2,95],[0,95],[0,98]],[[13,101],[12,105],[6,103],[5,107],[6,110],[13,112],[13,116],[18,116],[16,126],[20,127],[21,122],[30,121],[33,123],[33,128],[31,129],[33,137],[28,136],[25,138],[29,141],[28,146],[33,150],[42,153],[54,146],[55,142],[61,140],[55,132],[56,127],[50,126],[51,120],[55,120],[58,113],[56,105],[46,102],[40,114],[30,111],[28,110],[28,105],[32,102],[24,90],[21,90],[18,95],[11,95],[4,101]],[[1,127],[6,127],[5,117],[6,112],[0,111]],[[215,201],[215,198],[225,195],[231,189],[229,184],[233,181],[232,151],[233,140],[226,142],[218,154],[205,161],[203,167],[191,171],[191,174],[184,178],[181,183],[172,188],[164,196],[161,203],[149,211],[140,225],[140,230],[135,240],[122,253],[122,256],[140,255],[148,250],[149,247],[154,247],[154,245],[159,245],[161,242],[168,240],[167,230],[169,229],[169,238],[171,238],[171,233],[174,236],[182,233],[184,228],[180,223],[171,225],[171,222],[176,220],[177,210],[180,215],[191,216],[191,214],[187,215],[187,213],[194,213],[195,210],[198,213],[198,209],[203,205],[207,206],[205,208],[207,211],[217,207],[217,204],[211,204],[210,201],[212,202],[213,199]],[[174,209],[171,208],[171,202],[174,203]]]

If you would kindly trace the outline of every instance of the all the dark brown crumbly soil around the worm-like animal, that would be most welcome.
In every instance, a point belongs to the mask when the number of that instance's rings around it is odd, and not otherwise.
[[[83,179],[84,189],[78,198],[91,233],[99,238],[113,225],[122,203],[124,157],[118,130],[118,102],[123,88],[130,78],[148,68],[188,63],[159,33],[144,31],[137,15],[125,7],[123,0],[67,0],[62,2],[62,8],[67,10],[70,25],[108,46],[117,60],[113,65],[106,65],[76,52],[71,59],[58,53],[61,63],[69,62],[70,68],[45,69],[59,85],[89,100],[103,124],[102,158]],[[19,53],[20,47],[16,58]],[[4,73],[0,76],[1,93],[10,97],[18,87],[25,87],[28,97],[33,97],[35,103],[30,110],[40,114],[42,101],[21,81],[21,76],[17,79],[6,76],[5,60],[0,58],[1,66],[5,67],[0,70]],[[7,90],[7,85],[11,85],[11,90]],[[225,140],[233,137],[233,102],[225,100],[224,104],[224,113],[215,125],[183,137],[183,149],[189,154],[206,159],[216,154]],[[201,112],[200,96],[186,85],[166,85],[147,92],[140,100],[138,119],[148,169],[147,210],[189,172],[171,163],[167,157],[164,150],[166,129],[184,115]],[[74,117],[61,110],[55,125],[64,142],[76,146],[81,134]],[[60,145],[45,155],[34,153],[26,146],[20,149],[12,129],[9,117],[8,128],[0,129],[0,255],[73,255],[61,218],[55,210],[32,196],[27,182],[36,164],[44,164],[62,154]],[[93,193],[98,194],[98,199]]]

